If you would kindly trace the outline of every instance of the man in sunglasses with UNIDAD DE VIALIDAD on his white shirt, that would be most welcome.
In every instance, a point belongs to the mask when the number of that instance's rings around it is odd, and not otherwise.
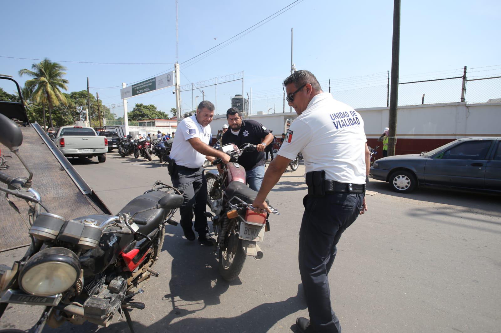
[[[364,195],[370,152],[364,122],[351,106],[323,92],[308,70],[294,72],[283,84],[287,101],[299,116],[287,130],[253,205],[257,212],[269,211],[266,195],[301,151],[308,195],[303,199],[299,231],[299,270],[310,319],[299,317],[296,325],[301,332],[340,332],[327,274],[341,234],[367,210]]]

